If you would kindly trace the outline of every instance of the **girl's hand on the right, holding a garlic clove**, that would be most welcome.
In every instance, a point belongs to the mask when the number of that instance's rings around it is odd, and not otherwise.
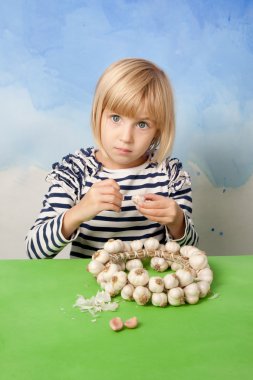
[[[145,201],[136,208],[147,219],[168,227],[174,239],[184,235],[185,219],[181,207],[174,199],[157,194],[145,194]]]

